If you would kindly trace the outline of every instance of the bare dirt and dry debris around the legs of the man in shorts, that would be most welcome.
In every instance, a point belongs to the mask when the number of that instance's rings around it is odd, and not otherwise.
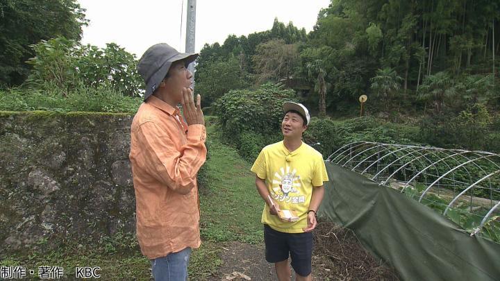
[[[314,233],[313,280],[399,280],[394,270],[367,253],[351,230],[324,222]],[[265,261],[263,244],[233,241],[220,246],[219,253],[222,266],[208,280],[277,280],[274,265]]]

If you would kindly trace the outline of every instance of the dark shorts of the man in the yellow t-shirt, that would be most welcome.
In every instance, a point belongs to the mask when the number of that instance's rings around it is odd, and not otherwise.
[[[288,259],[290,253],[295,273],[301,276],[308,276],[311,273],[313,232],[285,233],[265,224],[264,242],[267,262],[283,262]]]

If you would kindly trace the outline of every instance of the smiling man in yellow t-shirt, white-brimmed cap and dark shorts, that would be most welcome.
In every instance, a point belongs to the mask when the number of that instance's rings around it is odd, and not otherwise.
[[[312,280],[311,256],[316,212],[328,175],[321,153],[302,142],[310,117],[301,103],[283,103],[283,141],[260,151],[251,171],[266,205],[262,215],[265,256],[278,280],[290,280],[288,257],[297,280]]]

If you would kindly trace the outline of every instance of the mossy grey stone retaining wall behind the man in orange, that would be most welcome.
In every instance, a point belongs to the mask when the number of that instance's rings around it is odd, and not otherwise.
[[[0,252],[135,232],[132,119],[0,112]]]

